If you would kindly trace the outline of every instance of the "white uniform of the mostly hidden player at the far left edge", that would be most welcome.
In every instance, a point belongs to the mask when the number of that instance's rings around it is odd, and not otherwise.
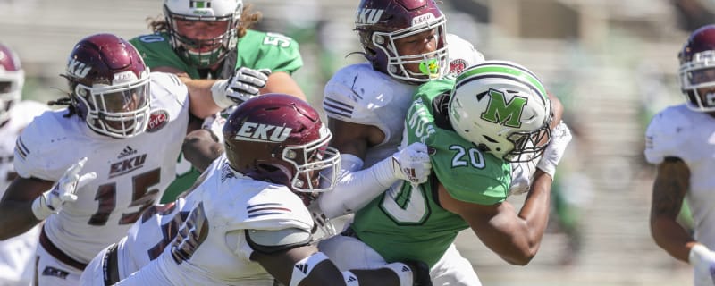
[[[21,130],[32,122],[35,116],[49,110],[47,105],[35,101],[21,101],[10,109],[10,120],[0,126],[0,198],[5,189],[17,176],[13,166],[15,139]],[[31,271],[26,268],[34,262],[35,248],[38,244],[39,226],[13,237],[0,241],[0,285],[14,285],[24,281],[29,284]],[[24,276],[23,273],[25,274]]]

